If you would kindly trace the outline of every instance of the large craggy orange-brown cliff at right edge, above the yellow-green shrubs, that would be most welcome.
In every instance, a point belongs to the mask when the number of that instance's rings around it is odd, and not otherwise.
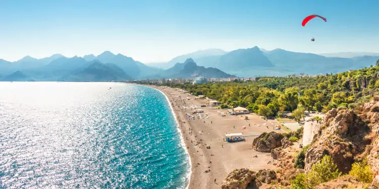
[[[371,101],[354,110],[334,109],[327,113],[325,124],[305,156],[305,171],[324,155],[331,155],[343,173],[353,162],[367,158],[374,172],[373,183],[379,185],[379,102]]]

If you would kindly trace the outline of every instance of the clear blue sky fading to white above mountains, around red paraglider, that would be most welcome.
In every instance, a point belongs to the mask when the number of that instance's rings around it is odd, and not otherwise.
[[[0,58],[111,51],[149,63],[209,48],[254,46],[379,52],[377,7],[376,0],[4,0]],[[327,22],[315,18],[302,27],[301,21],[312,14]]]

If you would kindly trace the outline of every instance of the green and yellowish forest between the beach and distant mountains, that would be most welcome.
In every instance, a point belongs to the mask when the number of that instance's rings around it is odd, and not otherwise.
[[[249,82],[164,85],[217,100],[222,103],[221,108],[241,106],[267,117],[296,110],[326,112],[337,107],[355,108],[375,96],[379,60],[368,68],[315,77],[257,77]]]

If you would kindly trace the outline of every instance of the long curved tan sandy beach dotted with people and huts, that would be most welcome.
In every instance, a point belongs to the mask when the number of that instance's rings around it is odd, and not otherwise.
[[[226,110],[209,106],[201,107],[208,104],[208,100],[194,100],[194,96],[180,93],[173,88],[150,87],[166,94],[180,122],[179,129],[192,163],[192,175],[188,188],[220,188],[222,180],[229,172],[237,168],[276,169],[276,166],[268,164],[272,160],[270,153],[257,152],[251,148],[254,136],[244,137],[246,142],[224,141],[226,133],[242,133],[243,136],[249,136],[274,131],[275,121],[266,121],[251,114],[223,117],[219,113],[226,114]],[[190,100],[180,100],[187,97]],[[196,106],[196,109],[202,109],[204,117],[188,121],[186,114],[191,114],[194,110],[191,108],[183,110],[181,109],[183,106]],[[207,118],[206,115],[209,117]],[[248,116],[249,120],[244,120],[245,116]],[[243,126],[246,129],[242,129]],[[206,145],[209,145],[210,149],[207,149]]]

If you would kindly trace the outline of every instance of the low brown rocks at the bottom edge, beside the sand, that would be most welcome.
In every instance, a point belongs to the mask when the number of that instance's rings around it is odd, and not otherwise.
[[[235,169],[222,181],[222,189],[245,189],[247,185],[260,187],[264,183],[270,184],[276,179],[276,173],[270,169],[258,172],[249,169]]]

